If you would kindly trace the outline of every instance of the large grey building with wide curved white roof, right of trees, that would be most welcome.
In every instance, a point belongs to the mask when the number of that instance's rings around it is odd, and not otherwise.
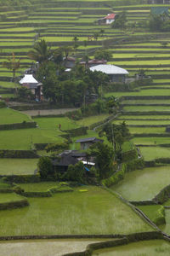
[[[111,64],[97,65],[90,67],[91,71],[100,71],[110,76],[112,82],[126,83],[127,70]]]

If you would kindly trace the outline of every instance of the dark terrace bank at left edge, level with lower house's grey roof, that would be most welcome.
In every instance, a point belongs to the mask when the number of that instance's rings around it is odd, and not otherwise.
[[[36,150],[0,150],[0,158],[38,158]]]

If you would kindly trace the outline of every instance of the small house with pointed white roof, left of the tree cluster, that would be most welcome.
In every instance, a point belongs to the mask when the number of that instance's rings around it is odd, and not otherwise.
[[[20,80],[20,84],[30,89],[37,101],[42,101],[42,83],[34,79],[32,74],[25,74],[24,78]]]

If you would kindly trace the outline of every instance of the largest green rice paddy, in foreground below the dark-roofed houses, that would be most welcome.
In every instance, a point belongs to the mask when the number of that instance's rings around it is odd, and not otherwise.
[[[0,212],[0,235],[127,234],[152,230],[130,207],[104,189],[86,187],[86,193],[79,189],[82,188],[49,198],[30,198],[30,207]]]

